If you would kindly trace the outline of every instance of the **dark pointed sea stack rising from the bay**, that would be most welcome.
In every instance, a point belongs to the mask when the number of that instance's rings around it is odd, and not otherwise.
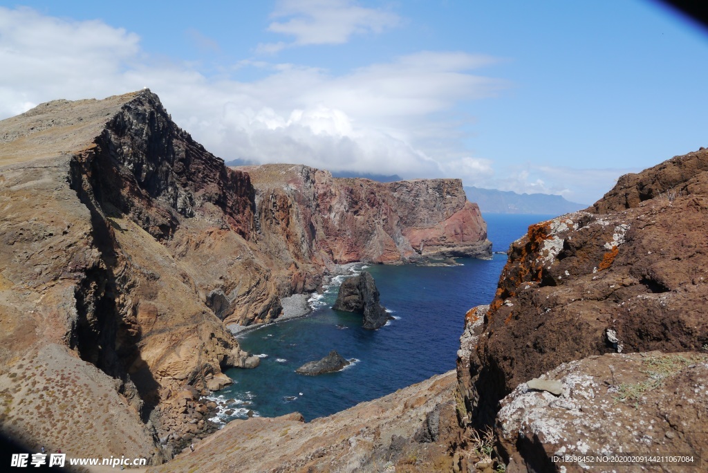
[[[362,271],[342,282],[332,309],[364,314],[362,326],[365,329],[375,330],[392,319],[387,314],[386,308],[379,302],[379,297],[374,277]]]

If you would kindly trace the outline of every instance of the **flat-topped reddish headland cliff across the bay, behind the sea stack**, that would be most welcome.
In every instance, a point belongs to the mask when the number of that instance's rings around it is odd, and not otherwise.
[[[489,257],[486,223],[459,179],[379,183],[302,165],[238,169],[256,188],[263,239],[285,236],[295,261],[396,263],[421,256]],[[277,246],[271,245],[271,246]]]

